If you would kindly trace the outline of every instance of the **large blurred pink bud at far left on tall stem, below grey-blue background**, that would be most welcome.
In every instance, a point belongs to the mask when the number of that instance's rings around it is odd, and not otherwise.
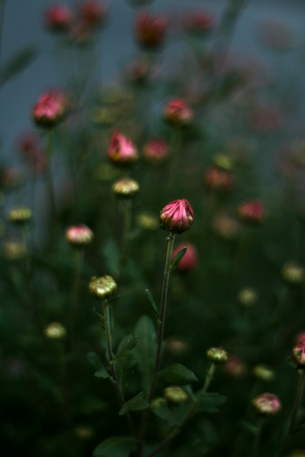
[[[32,110],[32,117],[39,127],[54,127],[64,119],[69,107],[67,94],[53,90],[40,97]]]

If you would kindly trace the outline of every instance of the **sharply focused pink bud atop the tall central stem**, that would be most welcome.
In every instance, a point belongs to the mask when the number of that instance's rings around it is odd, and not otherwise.
[[[168,203],[160,212],[161,228],[172,233],[186,232],[194,221],[194,213],[187,200]]]

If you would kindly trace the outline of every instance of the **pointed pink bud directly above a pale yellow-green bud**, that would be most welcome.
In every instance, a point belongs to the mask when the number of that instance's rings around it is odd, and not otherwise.
[[[134,143],[116,130],[108,148],[108,157],[117,165],[129,165],[138,159]]]

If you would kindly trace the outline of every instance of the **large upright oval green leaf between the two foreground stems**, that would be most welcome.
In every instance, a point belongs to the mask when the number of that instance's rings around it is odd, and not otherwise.
[[[141,386],[143,390],[148,390],[154,374],[157,350],[157,338],[153,320],[148,316],[140,317],[134,328],[134,335],[138,337],[134,355],[139,359],[138,370],[141,376]]]

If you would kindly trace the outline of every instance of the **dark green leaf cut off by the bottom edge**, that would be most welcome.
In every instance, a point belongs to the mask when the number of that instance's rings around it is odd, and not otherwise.
[[[112,436],[102,441],[93,451],[93,457],[129,457],[137,441],[132,436]]]

